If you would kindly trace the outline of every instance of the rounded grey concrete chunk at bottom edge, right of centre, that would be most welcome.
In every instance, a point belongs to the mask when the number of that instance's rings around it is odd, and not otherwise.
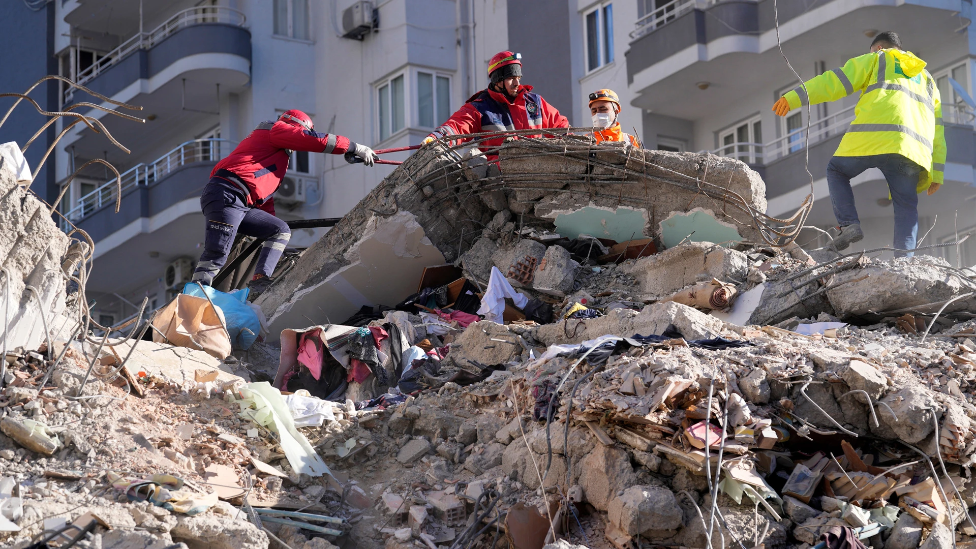
[[[607,520],[628,535],[669,537],[683,519],[674,494],[661,486],[630,486],[607,508]]]

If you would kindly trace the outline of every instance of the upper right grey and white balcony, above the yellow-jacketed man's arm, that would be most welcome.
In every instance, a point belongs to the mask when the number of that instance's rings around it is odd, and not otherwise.
[[[924,52],[934,67],[969,53],[966,34],[956,32],[969,12],[964,0],[778,4],[779,41],[773,0],[672,0],[644,15],[627,52],[631,106],[696,121],[730,110],[768,110],[773,94],[794,80],[780,42],[801,76],[809,78],[813,66],[830,69],[866,53],[865,29],[876,28],[878,21],[886,28],[925,28],[912,37],[911,49]]]

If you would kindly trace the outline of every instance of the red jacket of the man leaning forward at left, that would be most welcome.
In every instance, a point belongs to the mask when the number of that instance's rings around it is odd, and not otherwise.
[[[258,124],[250,135],[214,166],[210,177],[229,181],[247,196],[249,206],[260,205],[278,190],[285,177],[292,150],[343,154],[349,140],[336,134],[268,120]],[[273,206],[272,206],[273,207]]]

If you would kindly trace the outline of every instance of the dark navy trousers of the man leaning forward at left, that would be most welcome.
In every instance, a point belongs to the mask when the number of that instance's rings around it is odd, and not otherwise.
[[[237,232],[264,238],[254,274],[274,273],[292,237],[288,224],[264,210],[249,207],[243,193],[219,177],[210,178],[210,183],[203,188],[200,206],[206,220],[206,236],[193,280],[210,284],[227,262]]]

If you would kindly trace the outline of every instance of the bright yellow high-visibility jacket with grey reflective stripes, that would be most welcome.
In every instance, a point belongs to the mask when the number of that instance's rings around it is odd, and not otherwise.
[[[854,121],[834,155],[897,153],[921,166],[918,192],[943,182],[946,135],[942,101],[925,62],[915,54],[895,48],[865,54],[814,76],[804,86],[783,96],[791,109],[861,92]]]

